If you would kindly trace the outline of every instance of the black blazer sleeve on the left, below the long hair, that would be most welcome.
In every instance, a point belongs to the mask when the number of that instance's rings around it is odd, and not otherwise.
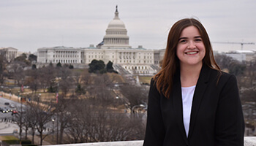
[[[146,123],[146,134],[143,146],[160,146],[165,138],[165,128],[162,120],[160,107],[160,93],[151,80],[148,93],[148,117]]]

